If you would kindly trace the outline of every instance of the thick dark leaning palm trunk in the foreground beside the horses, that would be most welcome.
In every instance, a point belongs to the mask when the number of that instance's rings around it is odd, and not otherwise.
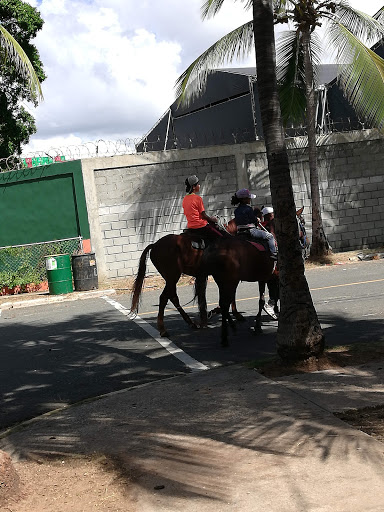
[[[307,359],[324,349],[324,336],[304,275],[295,201],[276,80],[272,0],[253,0],[257,85],[279,244],[281,312],[277,351],[283,360]]]

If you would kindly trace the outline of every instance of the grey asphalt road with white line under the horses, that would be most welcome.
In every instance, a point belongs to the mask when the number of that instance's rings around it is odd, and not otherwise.
[[[384,341],[383,260],[309,270],[307,279],[327,345]],[[220,346],[219,316],[210,328],[195,331],[172,308],[165,320],[176,346],[164,348],[160,342],[168,340],[160,340],[154,329],[159,293],[143,294],[139,320],[124,314],[129,295],[1,311],[0,429],[202,364],[212,368],[275,354],[277,322],[265,315],[264,334],[256,337],[250,330],[258,300],[254,283],[239,286],[238,308],[247,321],[230,333],[228,349]],[[197,318],[197,308],[187,304],[192,287],[180,287],[178,293]],[[213,307],[217,300],[212,283],[208,302]]]

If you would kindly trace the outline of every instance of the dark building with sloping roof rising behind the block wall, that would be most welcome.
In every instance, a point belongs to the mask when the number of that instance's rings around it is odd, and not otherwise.
[[[204,92],[188,105],[179,105],[176,100],[137,144],[137,151],[190,149],[262,140],[255,71],[255,68],[233,68],[211,72]],[[335,64],[319,67],[318,133],[369,128],[345,99],[336,74]],[[301,124],[286,126],[287,137],[305,134],[304,120]]]

